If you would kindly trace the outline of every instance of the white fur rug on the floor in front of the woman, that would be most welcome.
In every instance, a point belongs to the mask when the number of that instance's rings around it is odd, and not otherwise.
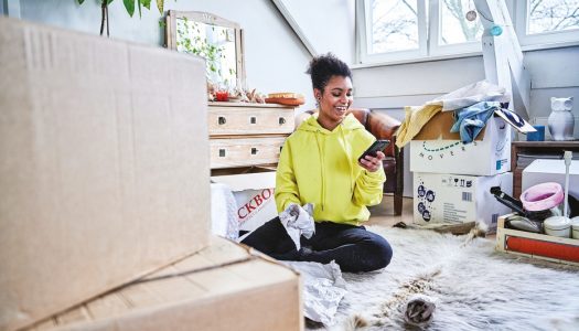
[[[343,275],[349,292],[330,330],[418,330],[400,312],[415,293],[439,300],[428,330],[579,330],[577,267],[497,253],[486,238],[369,229],[388,239],[393,260]]]

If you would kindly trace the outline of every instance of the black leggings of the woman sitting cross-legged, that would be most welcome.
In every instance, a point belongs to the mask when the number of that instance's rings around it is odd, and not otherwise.
[[[347,273],[382,269],[393,255],[390,244],[380,235],[364,226],[332,222],[315,223],[315,234],[310,239],[302,236],[300,243],[305,248],[297,250],[278,217],[258,227],[242,243],[281,260],[321,264],[335,260],[342,271]]]

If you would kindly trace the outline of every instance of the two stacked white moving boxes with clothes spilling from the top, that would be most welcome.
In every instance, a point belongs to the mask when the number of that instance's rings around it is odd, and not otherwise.
[[[491,186],[512,194],[511,126],[492,117],[472,143],[451,134],[452,111],[437,114],[410,141],[414,172],[414,222],[486,224],[510,210],[490,193]]]

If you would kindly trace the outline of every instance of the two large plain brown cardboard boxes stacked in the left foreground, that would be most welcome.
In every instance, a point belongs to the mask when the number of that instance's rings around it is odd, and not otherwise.
[[[302,328],[299,277],[210,235],[204,65],[0,18],[0,330]]]

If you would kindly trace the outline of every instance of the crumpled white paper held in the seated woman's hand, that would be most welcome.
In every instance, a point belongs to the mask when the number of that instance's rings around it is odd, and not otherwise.
[[[281,221],[298,250],[301,248],[300,236],[303,235],[307,238],[311,238],[315,233],[312,215],[313,205],[311,203],[304,204],[303,207],[292,203],[279,214],[279,221]]]

